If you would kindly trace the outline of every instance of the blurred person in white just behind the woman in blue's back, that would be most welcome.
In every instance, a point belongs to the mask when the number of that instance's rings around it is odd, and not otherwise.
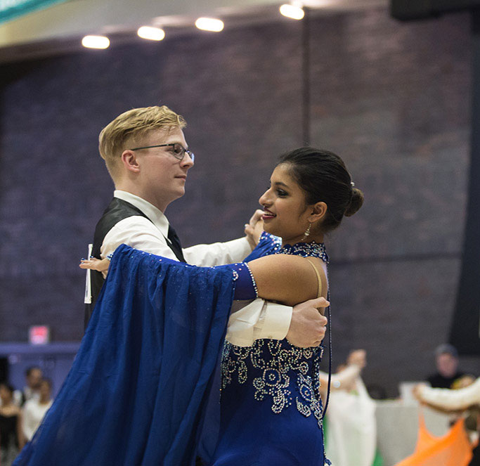
[[[351,351],[346,365],[332,375],[325,448],[335,466],[371,466],[375,459],[375,402],[360,377],[366,362],[365,350]],[[325,391],[326,373],[320,373],[320,383]]]

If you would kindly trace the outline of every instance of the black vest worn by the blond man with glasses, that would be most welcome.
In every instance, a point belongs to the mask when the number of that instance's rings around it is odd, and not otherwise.
[[[95,227],[95,235],[93,236],[93,249],[91,255],[97,259],[100,257],[100,247],[102,246],[105,235],[121,220],[127,219],[129,216],[140,215],[144,216],[145,219],[148,219],[138,207],[131,205],[130,202],[122,200],[119,198],[113,198],[108,207],[103,212],[102,218],[98,221],[97,226]],[[150,220],[150,219],[149,219]],[[167,241],[168,244],[168,241]],[[103,275],[96,271],[92,270],[91,272],[91,304],[85,304],[85,318],[84,325],[89,323],[91,313],[95,307],[96,300],[98,295],[100,295],[100,290],[102,289]]]

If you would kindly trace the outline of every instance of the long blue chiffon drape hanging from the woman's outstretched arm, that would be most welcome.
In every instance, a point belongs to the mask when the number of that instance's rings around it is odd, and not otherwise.
[[[189,466],[226,332],[228,266],[112,257],[79,352],[15,466]]]

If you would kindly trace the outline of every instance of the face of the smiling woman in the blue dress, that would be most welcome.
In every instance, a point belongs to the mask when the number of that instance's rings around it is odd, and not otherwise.
[[[309,227],[311,209],[306,205],[305,193],[290,176],[287,164],[275,167],[270,188],[259,199],[264,207],[264,230],[280,236],[284,244],[294,244],[304,237]]]

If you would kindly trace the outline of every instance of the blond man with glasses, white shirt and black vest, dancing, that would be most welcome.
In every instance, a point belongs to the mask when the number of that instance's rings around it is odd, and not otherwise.
[[[107,257],[122,243],[197,266],[242,261],[251,252],[247,238],[182,250],[169,226],[164,211],[185,193],[188,170],[194,164],[184,127],[183,117],[162,106],[124,112],[100,132],[100,155],[115,183],[115,193],[96,226],[93,257]],[[252,217],[252,227],[256,220]],[[104,278],[91,271],[91,304],[85,323]],[[318,346],[327,320],[314,306],[318,306],[316,300],[291,308],[256,299],[231,313],[227,339],[249,346],[255,339],[287,337],[299,347]]]

